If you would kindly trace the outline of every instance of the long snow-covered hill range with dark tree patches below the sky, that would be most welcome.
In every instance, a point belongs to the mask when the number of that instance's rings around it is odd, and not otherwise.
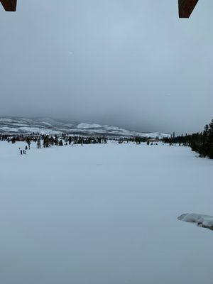
[[[1,117],[0,133],[41,133],[41,134],[81,134],[81,135],[106,135],[106,136],[142,136],[142,137],[167,137],[166,133],[141,133],[121,129],[117,126],[67,123],[50,118],[28,119],[24,117]]]

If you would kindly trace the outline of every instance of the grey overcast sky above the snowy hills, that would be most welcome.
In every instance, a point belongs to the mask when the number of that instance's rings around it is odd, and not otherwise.
[[[212,13],[212,0],[190,19],[178,0],[18,0],[0,11],[0,115],[200,131],[213,118]]]

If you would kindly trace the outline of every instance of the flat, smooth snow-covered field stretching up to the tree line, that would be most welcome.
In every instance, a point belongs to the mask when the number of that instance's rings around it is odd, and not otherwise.
[[[0,142],[0,283],[212,284],[213,161],[146,144]]]

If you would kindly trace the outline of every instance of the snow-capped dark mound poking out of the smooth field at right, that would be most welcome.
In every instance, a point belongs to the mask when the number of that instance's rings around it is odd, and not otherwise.
[[[178,220],[197,224],[197,226],[213,230],[213,216],[210,215],[187,213],[180,215],[180,217],[178,217]]]

